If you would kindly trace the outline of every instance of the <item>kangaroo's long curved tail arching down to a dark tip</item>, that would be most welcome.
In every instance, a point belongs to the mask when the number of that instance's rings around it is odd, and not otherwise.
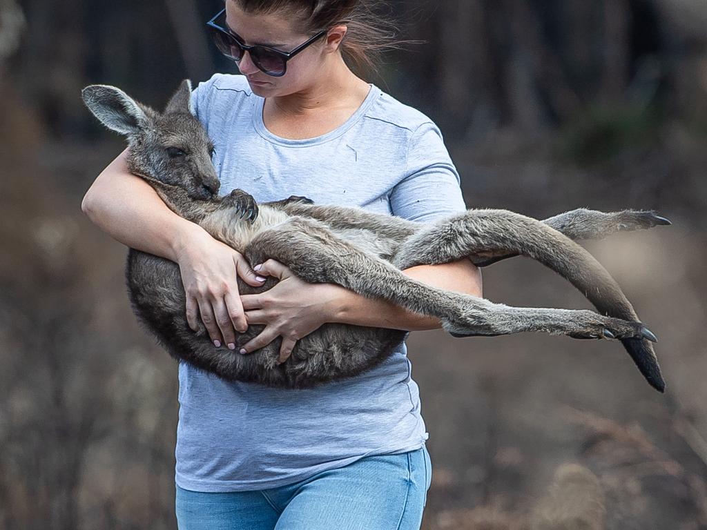
[[[471,210],[421,230],[400,250],[396,265],[407,268],[469,257],[515,252],[530,257],[566,278],[597,312],[640,322],[631,302],[606,269],[583,247],[537,219],[506,210]],[[655,336],[645,330],[645,338]],[[648,383],[665,390],[658,359],[645,339],[621,339]]]

